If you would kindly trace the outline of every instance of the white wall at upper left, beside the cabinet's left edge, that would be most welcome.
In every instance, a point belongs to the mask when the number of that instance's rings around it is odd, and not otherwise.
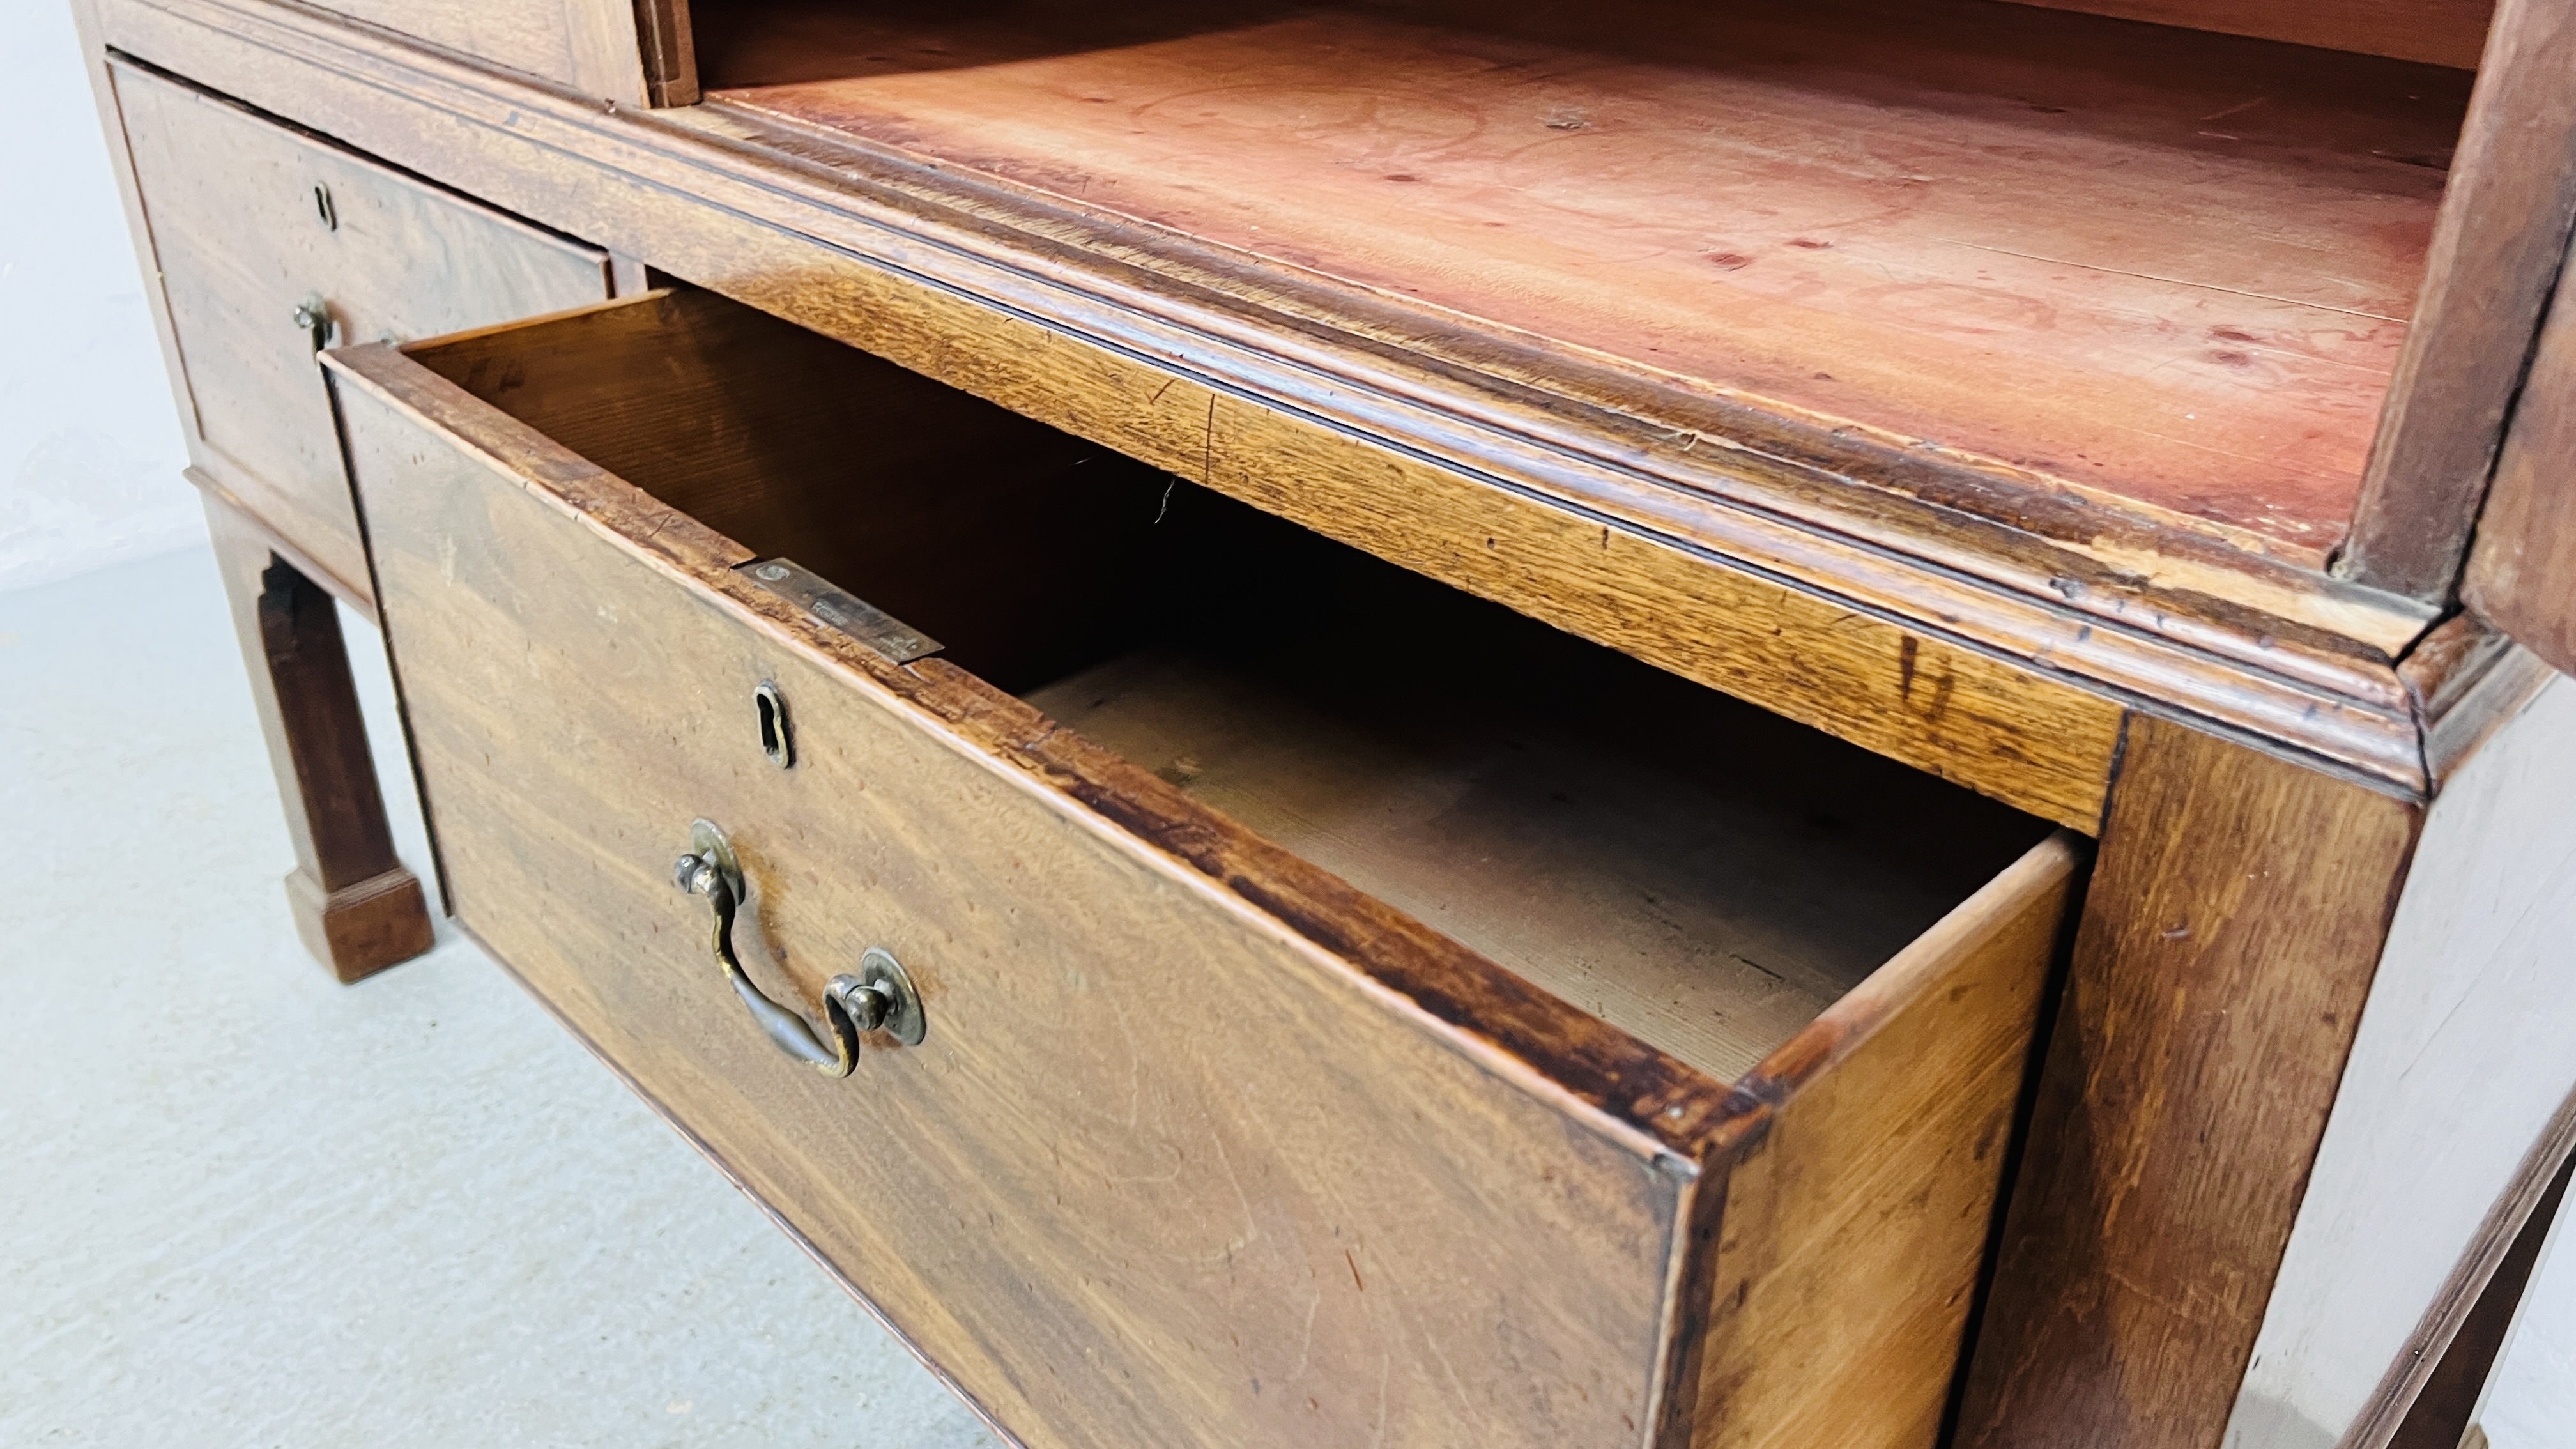
[[[206,536],[64,0],[0,0],[0,588]]]

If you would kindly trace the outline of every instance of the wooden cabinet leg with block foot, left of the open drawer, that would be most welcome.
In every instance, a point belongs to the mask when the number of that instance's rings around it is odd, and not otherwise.
[[[340,611],[222,498],[206,498],[206,529],[296,843],[296,931],[345,982],[407,962],[430,949],[430,908],[394,859]]]

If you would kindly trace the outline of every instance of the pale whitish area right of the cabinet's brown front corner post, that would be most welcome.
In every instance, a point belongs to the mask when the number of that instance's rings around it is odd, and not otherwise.
[[[2558,681],[2424,817],[2228,1449],[2342,1439],[2416,1348],[2445,1274],[2576,1091],[2571,969],[2576,683]]]

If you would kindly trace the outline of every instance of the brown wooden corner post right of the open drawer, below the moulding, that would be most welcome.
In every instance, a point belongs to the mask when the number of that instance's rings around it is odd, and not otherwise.
[[[2130,719],[1963,1449],[2215,1449],[2421,807]]]

